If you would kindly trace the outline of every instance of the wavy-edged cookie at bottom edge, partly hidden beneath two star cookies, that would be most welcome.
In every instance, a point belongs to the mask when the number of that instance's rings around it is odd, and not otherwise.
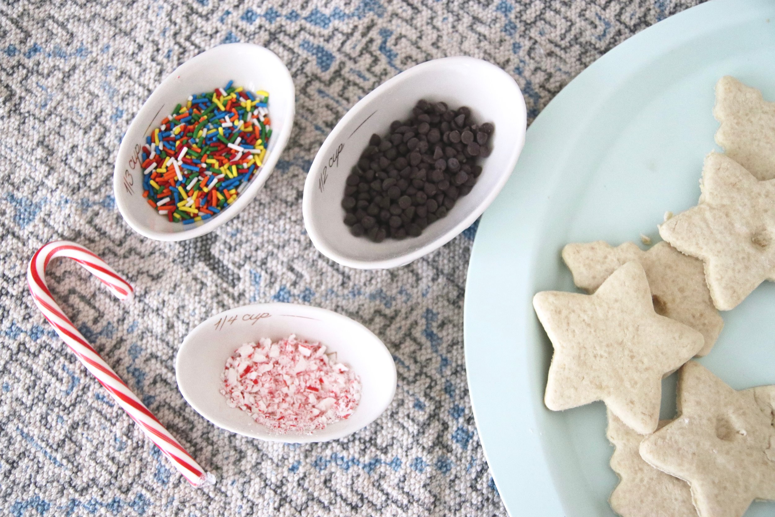
[[[620,480],[608,499],[614,512],[622,517],[697,517],[687,482],[647,464],[638,450],[643,436],[610,411],[606,436],[616,447],[611,468]]]

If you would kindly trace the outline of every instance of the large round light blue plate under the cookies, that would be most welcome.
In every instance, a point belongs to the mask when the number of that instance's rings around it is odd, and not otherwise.
[[[775,2],[715,0],[622,43],[574,79],[530,127],[525,150],[484,215],[465,308],[468,382],[498,491],[517,515],[614,515],[601,403],[543,405],[551,344],[536,291],[574,291],[566,243],[659,240],[667,211],[696,204],[714,149],[714,85],[725,74],[775,99]],[[723,313],[701,360],[733,388],[775,384],[775,284]],[[675,412],[664,383],[663,418]],[[773,515],[757,502],[746,517]]]

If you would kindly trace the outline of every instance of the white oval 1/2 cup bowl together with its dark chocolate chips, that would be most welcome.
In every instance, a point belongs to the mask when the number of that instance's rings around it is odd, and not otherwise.
[[[339,264],[409,264],[467,229],[512,174],[525,99],[500,67],[445,57],[401,72],[336,124],[312,162],[302,211]]]

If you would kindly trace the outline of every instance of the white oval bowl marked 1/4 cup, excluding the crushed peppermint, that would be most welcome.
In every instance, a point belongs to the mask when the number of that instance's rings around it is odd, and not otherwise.
[[[258,317],[263,315],[263,317]],[[233,322],[227,320],[236,316]],[[253,317],[253,319],[250,319]],[[219,324],[219,322],[221,322]],[[291,334],[319,341],[346,364],[362,385],[360,403],[350,418],[312,434],[277,434],[239,408],[229,408],[221,395],[226,360],[244,343]],[[325,308],[291,303],[245,305],[200,323],[183,340],[175,361],[177,386],[192,408],[215,426],[270,442],[326,442],[355,433],[377,419],[395,395],[396,372],[391,353],[369,329]]]

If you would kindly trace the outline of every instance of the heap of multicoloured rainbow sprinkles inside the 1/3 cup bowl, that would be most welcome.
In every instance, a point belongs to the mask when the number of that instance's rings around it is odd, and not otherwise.
[[[191,95],[143,146],[143,197],[171,222],[218,215],[261,170],[272,136],[269,94],[226,88]]]

